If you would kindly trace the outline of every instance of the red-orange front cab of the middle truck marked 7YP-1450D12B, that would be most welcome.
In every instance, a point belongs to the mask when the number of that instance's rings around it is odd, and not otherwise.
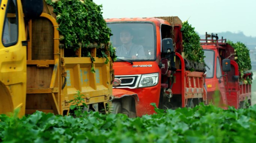
[[[156,22],[159,25],[159,22],[156,19],[148,21],[145,19],[137,19],[138,21],[122,19],[124,22],[119,22],[119,20],[106,20],[107,25],[112,30],[113,36],[110,40],[113,46],[116,47],[116,55],[118,56],[114,63],[113,94],[116,95],[116,98],[120,97],[118,100],[122,100],[122,102],[112,102],[112,104],[122,104],[124,109],[128,108],[126,110],[130,111],[130,116],[134,116],[136,111],[138,116],[153,113],[154,108],[150,103],[156,102],[158,105],[161,89],[161,69],[159,68],[161,51],[157,48],[161,43],[157,43],[155,34],[159,34],[159,28],[154,23]],[[137,58],[132,58],[129,53],[126,53],[127,55],[122,53],[120,53],[122,55],[119,55],[118,53],[119,48],[124,46],[120,37],[120,31],[124,27],[132,29],[131,36],[134,50],[141,48],[141,53],[138,53],[141,55],[135,55]],[[134,108],[134,105],[137,105],[136,108]]]

